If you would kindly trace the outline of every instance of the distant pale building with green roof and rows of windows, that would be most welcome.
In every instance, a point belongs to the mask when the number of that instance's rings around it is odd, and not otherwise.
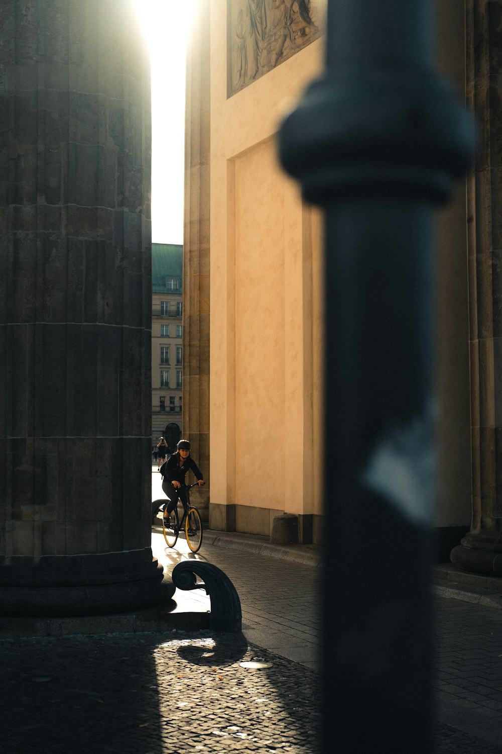
[[[181,437],[183,247],[152,244],[152,444]]]

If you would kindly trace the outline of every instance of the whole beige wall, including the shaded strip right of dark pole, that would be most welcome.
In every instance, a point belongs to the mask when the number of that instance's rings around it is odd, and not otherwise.
[[[462,96],[463,4],[438,5],[438,63]],[[324,38],[227,100],[226,3],[211,3],[210,26],[211,504],[235,506],[236,529],[268,534],[278,511],[322,513],[322,222],[278,167],[275,137],[321,72]],[[462,187],[438,221],[436,259],[436,524],[451,528],[468,525],[471,498]]]

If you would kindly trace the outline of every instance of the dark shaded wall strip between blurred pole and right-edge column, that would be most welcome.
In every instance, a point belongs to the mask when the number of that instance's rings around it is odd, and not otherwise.
[[[465,8],[458,0],[435,5],[437,66],[465,97]],[[469,528],[471,510],[469,284],[467,279],[466,183],[455,188],[452,200],[437,218],[434,250],[436,276],[437,422],[439,468],[435,516],[438,562]]]

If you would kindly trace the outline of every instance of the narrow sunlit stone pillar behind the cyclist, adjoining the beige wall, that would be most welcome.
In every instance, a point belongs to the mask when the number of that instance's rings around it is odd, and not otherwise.
[[[183,436],[205,486],[194,498],[209,515],[209,3],[199,0],[187,51],[183,245]]]

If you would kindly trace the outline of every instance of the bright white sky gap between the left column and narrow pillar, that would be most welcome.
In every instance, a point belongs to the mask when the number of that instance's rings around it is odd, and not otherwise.
[[[135,0],[151,50],[154,244],[183,244],[185,57],[195,2]]]

